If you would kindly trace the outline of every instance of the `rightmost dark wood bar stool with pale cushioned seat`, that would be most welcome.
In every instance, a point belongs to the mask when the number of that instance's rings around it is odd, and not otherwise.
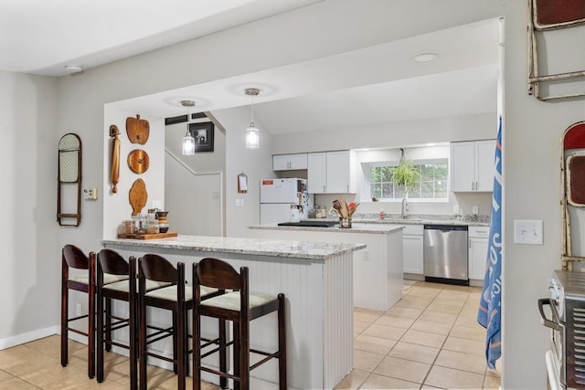
[[[233,290],[218,297],[201,300],[204,288]],[[209,353],[201,354],[200,343],[193,343],[193,388],[201,388],[201,371],[217,374],[234,380],[234,388],[250,389],[250,370],[271,360],[279,360],[279,388],[286,389],[286,334],[284,318],[284,294],[273,297],[267,294],[250,293],[248,268],[238,271],[227,262],[218,258],[203,258],[193,264],[193,337],[201,335],[201,316],[218,318],[233,323],[234,374],[224,370],[214,370],[201,365],[201,359]],[[278,311],[278,351],[266,353],[250,349],[250,321],[272,311]],[[250,353],[265,356],[250,366]]]

